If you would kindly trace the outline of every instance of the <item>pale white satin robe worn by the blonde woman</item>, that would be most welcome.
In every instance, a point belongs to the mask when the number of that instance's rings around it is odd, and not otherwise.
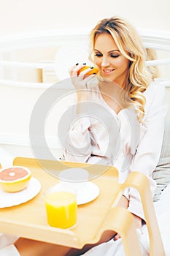
[[[165,88],[158,82],[152,82],[144,95],[145,116],[143,123],[139,124],[134,110],[125,108],[116,114],[98,89],[92,88],[91,102],[85,103],[85,109],[90,112],[80,116],[73,114],[71,118],[72,125],[63,142],[64,159],[114,165],[119,171],[120,182],[125,181],[128,173],[139,171],[148,177],[154,195],[156,183],[152,172],[158,163],[163,142]],[[124,195],[129,200],[128,210],[144,219],[136,189],[125,189]]]

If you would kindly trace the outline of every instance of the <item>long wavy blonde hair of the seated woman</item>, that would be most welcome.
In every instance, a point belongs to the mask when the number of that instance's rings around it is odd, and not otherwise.
[[[130,105],[134,105],[136,109],[139,122],[142,122],[146,102],[143,92],[152,81],[150,69],[145,65],[147,51],[136,30],[128,22],[117,17],[105,18],[99,21],[90,33],[90,60],[93,60],[96,37],[104,33],[112,35],[120,53],[130,61],[127,84],[124,89],[128,94]]]

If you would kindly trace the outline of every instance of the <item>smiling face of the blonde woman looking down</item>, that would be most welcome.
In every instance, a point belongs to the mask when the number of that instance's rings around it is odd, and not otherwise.
[[[98,34],[94,44],[94,63],[103,78],[125,86],[129,60],[120,53],[111,34]]]

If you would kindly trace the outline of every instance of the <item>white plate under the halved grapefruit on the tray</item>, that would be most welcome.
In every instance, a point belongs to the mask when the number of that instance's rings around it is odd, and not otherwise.
[[[41,184],[40,182],[31,177],[28,187],[19,192],[8,193],[0,189],[0,208],[18,206],[20,203],[26,203],[28,200],[34,198],[40,191]]]

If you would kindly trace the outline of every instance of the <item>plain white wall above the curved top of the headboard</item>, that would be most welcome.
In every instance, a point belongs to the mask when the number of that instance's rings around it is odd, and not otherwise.
[[[170,30],[169,0],[0,0],[0,36],[56,28],[93,28],[120,15],[134,26]]]

